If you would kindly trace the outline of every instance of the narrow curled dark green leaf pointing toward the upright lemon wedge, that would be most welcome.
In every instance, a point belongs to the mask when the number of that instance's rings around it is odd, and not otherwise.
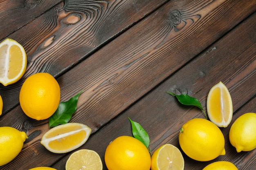
[[[189,95],[186,95],[186,94],[176,95],[175,93],[171,93],[171,92],[168,92],[168,91],[166,93],[171,94],[173,96],[176,96],[178,101],[181,104],[188,105],[188,106],[196,106],[204,112],[204,109],[202,108],[202,105],[201,105],[201,103],[199,102],[198,99],[196,99],[194,97],[191,97]],[[207,115],[206,115],[205,112],[204,112],[204,116],[207,118]]]

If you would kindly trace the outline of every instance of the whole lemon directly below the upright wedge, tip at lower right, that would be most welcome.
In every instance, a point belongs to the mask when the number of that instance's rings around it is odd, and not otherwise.
[[[181,128],[179,143],[186,155],[197,161],[210,161],[225,155],[225,139],[215,124],[207,119],[195,118]]]

